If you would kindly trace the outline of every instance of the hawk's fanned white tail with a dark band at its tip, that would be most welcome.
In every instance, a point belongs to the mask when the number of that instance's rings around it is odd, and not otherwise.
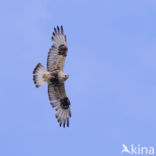
[[[48,71],[42,66],[41,63],[38,63],[33,71],[33,80],[36,87],[40,87],[47,83],[46,79],[44,79],[44,75],[46,75]]]

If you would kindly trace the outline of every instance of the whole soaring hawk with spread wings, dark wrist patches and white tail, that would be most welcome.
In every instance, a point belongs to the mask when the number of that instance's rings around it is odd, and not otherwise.
[[[67,56],[67,39],[63,27],[54,28],[51,40],[53,45],[47,57],[47,69],[38,63],[33,71],[33,80],[36,87],[48,84],[50,104],[55,107],[58,123],[69,127],[71,117],[70,101],[66,95],[64,83],[69,75],[64,73],[64,62]]]

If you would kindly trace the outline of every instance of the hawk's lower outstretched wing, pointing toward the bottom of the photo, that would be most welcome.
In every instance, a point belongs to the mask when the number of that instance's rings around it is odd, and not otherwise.
[[[56,118],[60,126],[63,124],[63,127],[69,127],[70,101],[66,96],[64,84],[48,84],[48,95],[51,105],[56,108]]]

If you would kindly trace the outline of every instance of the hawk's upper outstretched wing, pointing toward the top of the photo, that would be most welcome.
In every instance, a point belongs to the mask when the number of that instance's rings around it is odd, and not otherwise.
[[[64,34],[63,27],[54,28],[52,35],[53,46],[49,49],[47,58],[47,70],[53,71],[55,69],[63,70],[64,61],[67,56],[67,40]]]

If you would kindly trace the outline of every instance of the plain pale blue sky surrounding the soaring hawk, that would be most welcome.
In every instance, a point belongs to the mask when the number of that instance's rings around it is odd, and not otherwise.
[[[156,148],[155,0],[0,2],[0,155],[120,156],[122,144]],[[68,41],[70,128],[60,128],[47,86],[53,27]]]

